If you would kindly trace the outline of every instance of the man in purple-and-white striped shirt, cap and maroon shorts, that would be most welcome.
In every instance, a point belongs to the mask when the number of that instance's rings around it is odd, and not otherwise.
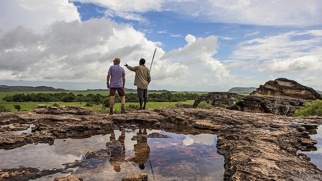
[[[121,60],[115,58],[113,60],[114,65],[110,66],[109,72],[106,77],[107,88],[110,89],[110,115],[113,114],[113,106],[115,101],[115,93],[118,91],[119,96],[121,97],[121,113],[125,112],[125,70],[120,66]],[[111,78],[111,81],[110,81]],[[109,83],[110,81],[110,83]]]

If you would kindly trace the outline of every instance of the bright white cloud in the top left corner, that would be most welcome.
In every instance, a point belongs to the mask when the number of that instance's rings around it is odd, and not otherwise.
[[[39,29],[55,21],[80,20],[77,8],[68,0],[2,0],[0,24]]]

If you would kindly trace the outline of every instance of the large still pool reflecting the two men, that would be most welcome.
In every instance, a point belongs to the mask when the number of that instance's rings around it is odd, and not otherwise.
[[[159,132],[171,138],[131,140],[142,132]],[[124,143],[124,148],[116,153],[121,156],[104,161],[85,158],[88,151],[106,148],[106,142],[113,139]],[[184,135],[156,129],[114,130],[110,134],[83,139],[56,139],[54,145],[28,144],[0,150],[1,160],[5,160],[0,162],[0,168],[64,168],[64,163],[83,160],[92,168],[72,170],[74,176],[84,181],[121,181],[135,173],[147,173],[149,181],[153,181],[153,176],[156,181],[222,181],[224,158],[217,153],[216,143],[217,136],[213,134]],[[37,181],[53,181],[55,177],[65,175],[58,173]]]

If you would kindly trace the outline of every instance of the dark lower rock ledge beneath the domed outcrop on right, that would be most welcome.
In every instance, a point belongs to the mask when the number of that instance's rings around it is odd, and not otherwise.
[[[286,96],[246,96],[236,102],[240,111],[249,111],[254,113],[272,113],[275,115],[290,115],[304,106],[304,99],[296,99]]]

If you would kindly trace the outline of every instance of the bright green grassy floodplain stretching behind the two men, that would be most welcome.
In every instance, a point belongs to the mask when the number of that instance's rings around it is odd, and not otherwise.
[[[102,104],[99,105],[93,105],[93,106],[86,106],[86,102],[6,102],[2,100],[3,97],[7,95],[15,95],[15,94],[38,94],[38,93],[44,93],[44,94],[49,94],[49,93],[73,93],[75,95],[77,94],[83,94],[86,96],[87,94],[100,94],[103,96],[108,96],[109,92],[108,91],[11,91],[11,92],[0,92],[0,105],[4,106],[7,109],[10,109],[12,112],[17,111],[14,109],[14,105],[20,105],[21,111],[32,111],[34,108],[37,108],[37,105],[42,104],[42,105],[47,105],[47,106],[53,106],[53,104],[58,104],[60,106],[81,106],[85,107],[88,109],[91,109],[93,111],[102,111]],[[126,92],[126,93],[136,93],[136,92]],[[151,92],[152,93],[152,92]],[[157,92],[153,92],[157,93]],[[196,94],[206,94],[207,92],[199,92],[199,91],[194,91],[194,92],[171,92],[173,94],[176,93],[196,93]],[[160,93],[157,93],[160,94]],[[187,100],[185,102],[182,102],[183,104],[186,105],[193,105],[194,100]],[[177,102],[148,102],[146,107],[147,108],[160,108],[160,107],[174,107],[177,104]],[[138,102],[127,102],[126,106],[128,105],[139,105]],[[116,110],[121,107],[121,103],[115,103],[114,108]],[[104,109],[104,108],[103,108]]]

